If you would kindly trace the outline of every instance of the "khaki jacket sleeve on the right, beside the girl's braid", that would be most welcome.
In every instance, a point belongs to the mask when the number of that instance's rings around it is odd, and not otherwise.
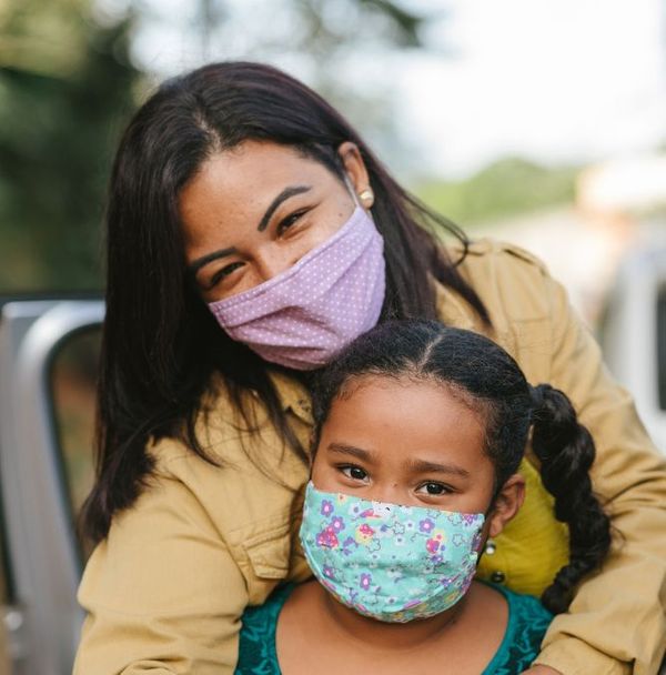
[[[666,469],[632,397],[599,347],[544,276],[551,299],[551,384],[572,399],[595,440],[595,492],[613,526],[603,568],[579,586],[548,629],[537,664],[564,675],[655,675],[666,647]]]

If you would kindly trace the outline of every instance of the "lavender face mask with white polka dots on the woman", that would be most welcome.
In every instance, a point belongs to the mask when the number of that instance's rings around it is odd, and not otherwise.
[[[385,292],[383,249],[372,218],[356,206],[289,270],[209,308],[233,340],[266,361],[313,370],[376,324]]]

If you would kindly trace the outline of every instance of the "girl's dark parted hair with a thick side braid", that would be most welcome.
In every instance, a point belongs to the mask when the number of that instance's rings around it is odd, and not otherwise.
[[[363,375],[438,382],[460,396],[485,423],[496,494],[517,471],[532,430],[555,516],[569,531],[569,562],[542,603],[553,613],[566,612],[576,584],[610,546],[610,522],[589,480],[594,442],[566,395],[548,384],[532,387],[518,364],[483,335],[436,321],[390,321],[355,340],[321,373],[313,394],[314,449],[331,404]]]

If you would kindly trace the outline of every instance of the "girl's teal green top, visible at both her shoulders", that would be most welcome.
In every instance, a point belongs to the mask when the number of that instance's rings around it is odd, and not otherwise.
[[[518,675],[536,658],[553,615],[531,595],[487,585],[506,598],[508,621],[502,644],[482,675]],[[295,584],[280,586],[263,605],[245,609],[235,675],[281,675],[275,627],[278,615],[294,587]]]

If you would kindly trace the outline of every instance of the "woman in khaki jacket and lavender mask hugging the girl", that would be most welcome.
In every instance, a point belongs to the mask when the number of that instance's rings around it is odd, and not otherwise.
[[[426,229],[436,222],[333,109],[274,69],[209,66],[139,110],[110,189],[85,511],[98,546],[78,674],[233,671],[245,606],[310,576],[296,543],[310,371],[405,316],[492,336],[528,381],[563,390],[595,437],[594,486],[618,544],[533,672],[655,671],[662,459],[544,268],[512,246],[467,245],[447,223],[458,243],[444,249]],[[521,466],[525,505],[480,575],[538,595],[567,541],[533,462]]]

